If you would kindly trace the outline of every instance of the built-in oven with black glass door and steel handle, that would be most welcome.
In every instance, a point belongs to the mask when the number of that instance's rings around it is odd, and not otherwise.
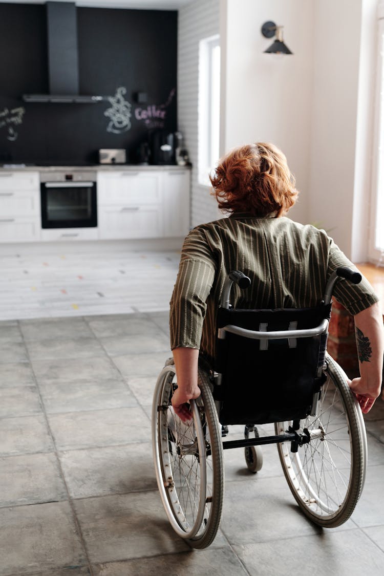
[[[40,173],[41,227],[97,226],[96,172]]]

